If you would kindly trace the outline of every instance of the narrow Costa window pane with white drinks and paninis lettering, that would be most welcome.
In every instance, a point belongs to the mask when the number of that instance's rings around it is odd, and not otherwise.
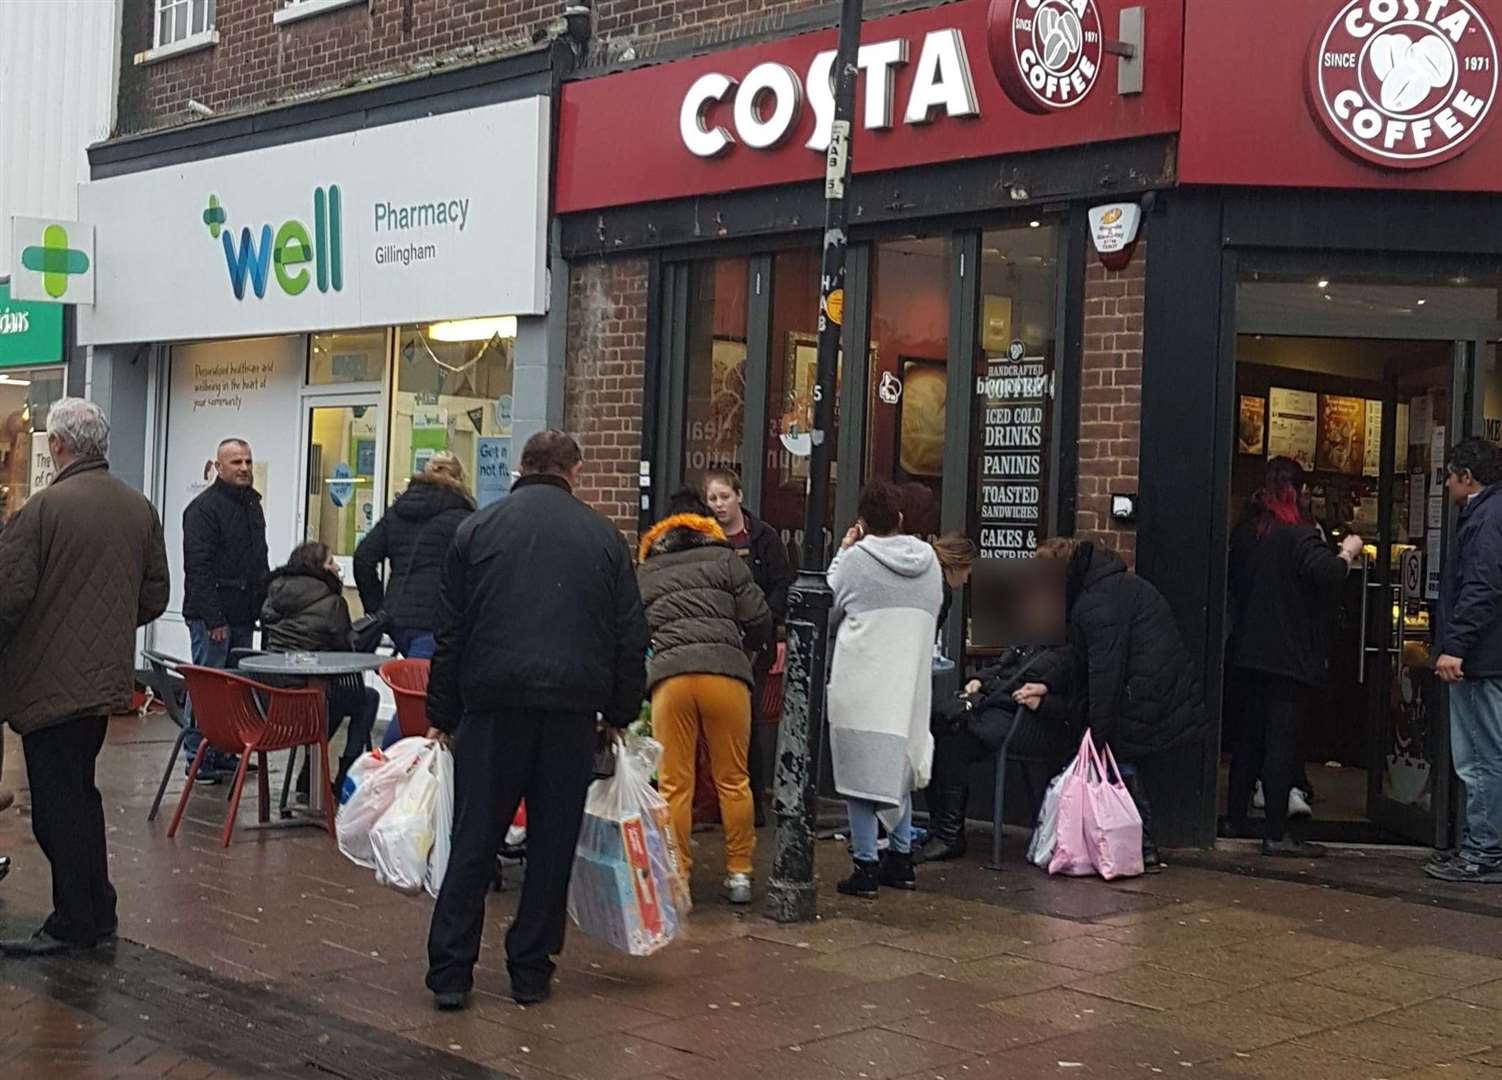
[[[1057,251],[1047,225],[981,236],[969,533],[982,559],[1029,557],[1047,523]]]

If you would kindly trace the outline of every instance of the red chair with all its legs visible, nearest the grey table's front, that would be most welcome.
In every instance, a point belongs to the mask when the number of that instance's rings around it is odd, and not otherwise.
[[[224,846],[230,846],[234,832],[234,814],[240,808],[240,790],[245,787],[245,772],[251,754],[255,754],[260,772],[260,820],[270,820],[270,780],[266,771],[266,754],[296,747],[318,748],[320,775],[323,778],[323,808],[327,817],[329,835],[333,835],[333,799],[329,798],[329,721],[327,703],[321,688],[284,689],[251,682],[239,674],[212,667],[183,664],[177,668],[188,683],[192,701],[192,716],[203,735],[203,744],[188,771],[188,783],[177,801],[177,813],[167,829],[168,837],[177,835],[183,810],[192,795],[198,766],[212,747],[225,754],[239,754],[240,768],[234,774],[230,790],[230,811],[224,822]],[[260,698],[260,700],[257,700]],[[261,704],[264,701],[264,706]]]

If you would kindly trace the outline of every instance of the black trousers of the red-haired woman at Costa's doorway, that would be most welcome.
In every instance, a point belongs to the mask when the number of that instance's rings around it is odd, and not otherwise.
[[[1299,719],[1310,688],[1293,679],[1260,671],[1239,671],[1247,707],[1230,759],[1227,816],[1238,831],[1247,826],[1251,789],[1262,780],[1268,840],[1283,840],[1289,817],[1289,789],[1299,775]]]

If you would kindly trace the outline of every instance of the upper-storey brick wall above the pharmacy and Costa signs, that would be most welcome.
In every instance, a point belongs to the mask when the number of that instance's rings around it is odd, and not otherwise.
[[[155,0],[126,0],[120,135],[532,48],[562,29],[562,0],[369,0],[276,26],[284,0],[218,0],[213,48],[135,66],[152,47]],[[876,3],[880,9],[891,3]],[[924,6],[924,0],[906,6]],[[410,9],[410,11],[409,11]],[[641,60],[667,44],[706,48],[775,35],[829,0],[596,0],[590,63]]]

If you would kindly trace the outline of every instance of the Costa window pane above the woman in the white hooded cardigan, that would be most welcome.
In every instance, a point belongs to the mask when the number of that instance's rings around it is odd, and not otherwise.
[[[939,532],[949,354],[949,242],[877,245],[871,269],[865,475],[900,484],[906,527]]]

